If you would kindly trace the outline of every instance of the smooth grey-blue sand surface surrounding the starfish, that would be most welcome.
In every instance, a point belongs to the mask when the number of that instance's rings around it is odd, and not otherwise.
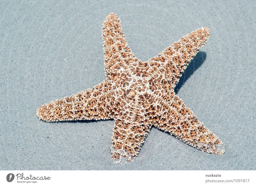
[[[0,169],[255,170],[254,1],[1,1]],[[104,80],[101,25],[115,12],[143,61],[183,35],[211,37],[176,92],[222,156],[152,128],[134,162],[110,159],[113,120],[47,123],[36,108]]]

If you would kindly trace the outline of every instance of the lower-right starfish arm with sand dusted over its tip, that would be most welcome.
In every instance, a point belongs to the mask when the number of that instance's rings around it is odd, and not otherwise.
[[[171,104],[163,103],[154,126],[204,152],[224,154],[222,141],[197,120],[193,112],[174,94]]]

